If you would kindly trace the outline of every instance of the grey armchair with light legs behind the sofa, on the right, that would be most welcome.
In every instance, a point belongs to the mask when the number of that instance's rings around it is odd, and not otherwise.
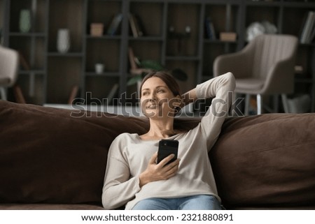
[[[286,94],[294,91],[297,44],[295,36],[262,34],[243,50],[217,57],[214,76],[228,71],[235,75],[235,92],[246,94],[245,114],[251,95],[257,96],[258,114],[262,112],[262,95],[281,94],[284,111],[288,112]]]

